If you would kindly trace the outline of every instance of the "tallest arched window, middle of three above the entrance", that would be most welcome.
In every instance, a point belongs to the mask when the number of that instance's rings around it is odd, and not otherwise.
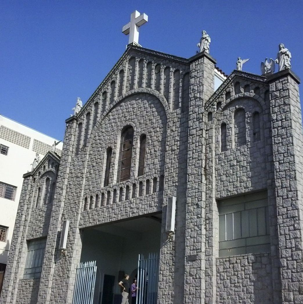
[[[117,182],[126,181],[130,177],[130,166],[133,152],[133,137],[133,127],[125,127],[121,133]]]

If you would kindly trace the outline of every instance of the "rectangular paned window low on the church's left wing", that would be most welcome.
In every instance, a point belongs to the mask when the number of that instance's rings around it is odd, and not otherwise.
[[[27,256],[24,269],[24,279],[40,278],[43,257],[46,247],[46,238],[27,242]]]

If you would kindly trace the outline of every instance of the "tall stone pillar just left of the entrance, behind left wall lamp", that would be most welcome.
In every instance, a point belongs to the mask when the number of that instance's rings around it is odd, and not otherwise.
[[[55,284],[54,282],[56,280],[59,280],[54,276],[54,271],[56,262],[59,261],[60,258],[58,242],[62,226],[62,213],[64,209],[68,177],[70,174],[71,160],[74,156],[77,142],[77,120],[75,116],[67,119],[66,124],[37,303],[56,303],[55,295],[52,294],[52,285]],[[61,257],[60,263],[64,264],[66,259],[66,257]],[[57,282],[61,287],[57,289],[57,293],[59,294],[59,297],[62,295],[60,298],[62,302],[66,302],[64,295],[66,296],[67,293],[67,288],[64,286],[64,283],[66,284],[66,282],[63,282],[62,278],[61,282]]]

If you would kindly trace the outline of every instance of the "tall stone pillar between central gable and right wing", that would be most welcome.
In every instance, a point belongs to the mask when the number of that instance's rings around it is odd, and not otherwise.
[[[205,127],[203,107],[214,92],[215,60],[199,53],[190,61],[188,174],[185,214],[184,304],[205,299]]]

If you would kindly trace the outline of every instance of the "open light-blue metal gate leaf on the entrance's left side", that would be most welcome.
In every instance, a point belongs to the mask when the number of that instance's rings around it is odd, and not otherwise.
[[[96,261],[80,263],[76,273],[73,304],[92,304],[94,299]]]

